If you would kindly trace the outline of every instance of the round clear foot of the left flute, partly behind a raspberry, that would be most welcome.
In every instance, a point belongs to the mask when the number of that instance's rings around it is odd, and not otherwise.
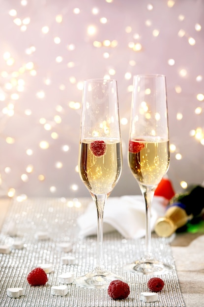
[[[84,288],[108,288],[111,281],[120,280],[124,281],[121,277],[105,271],[105,270],[94,270],[87,273],[84,276],[75,279],[75,284]]]

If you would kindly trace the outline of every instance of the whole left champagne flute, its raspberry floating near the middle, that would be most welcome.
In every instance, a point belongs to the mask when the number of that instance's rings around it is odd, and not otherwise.
[[[103,212],[108,196],[122,170],[117,81],[89,79],[84,82],[79,174],[97,208],[97,263],[95,269],[75,280],[82,287],[107,288],[122,280],[103,264]]]

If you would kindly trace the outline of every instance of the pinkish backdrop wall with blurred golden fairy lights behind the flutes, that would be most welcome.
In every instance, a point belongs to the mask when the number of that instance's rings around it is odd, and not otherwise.
[[[123,172],[133,76],[167,77],[176,191],[204,181],[204,0],[0,0],[0,194],[89,196],[77,172],[83,80],[117,79]]]

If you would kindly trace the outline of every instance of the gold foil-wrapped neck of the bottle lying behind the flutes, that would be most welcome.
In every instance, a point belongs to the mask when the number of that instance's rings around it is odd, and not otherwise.
[[[164,217],[156,221],[154,230],[160,237],[171,236],[176,229],[187,223],[189,216],[179,206],[173,205],[168,208]]]

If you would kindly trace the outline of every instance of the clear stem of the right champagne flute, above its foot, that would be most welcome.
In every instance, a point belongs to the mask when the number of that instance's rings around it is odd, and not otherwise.
[[[142,186],[141,187],[143,197],[145,199],[146,205],[146,219],[145,219],[145,227],[146,227],[146,259],[151,259],[151,205],[154,196],[154,186]]]

